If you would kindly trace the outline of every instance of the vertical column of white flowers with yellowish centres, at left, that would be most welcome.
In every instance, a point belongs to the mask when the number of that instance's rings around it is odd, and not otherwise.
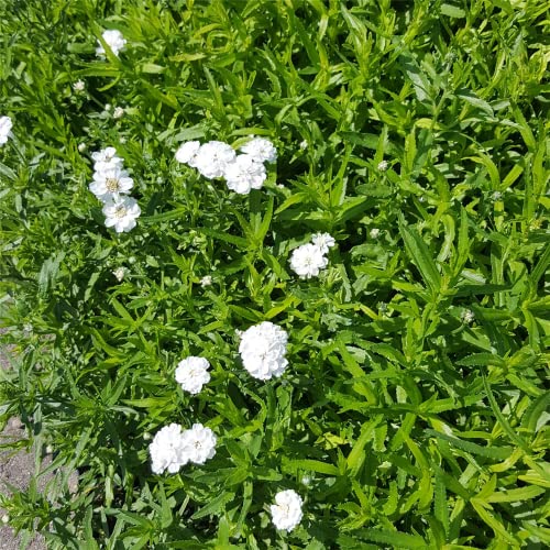
[[[103,202],[106,227],[113,227],[117,233],[132,230],[141,209],[138,201],[128,196],[134,182],[122,167],[124,161],[117,156],[114,147],[92,153],[91,158],[95,172],[89,189]]]

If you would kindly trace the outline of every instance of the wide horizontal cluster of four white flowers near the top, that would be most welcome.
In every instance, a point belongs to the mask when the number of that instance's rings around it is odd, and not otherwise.
[[[277,160],[273,143],[264,138],[254,138],[241,147],[238,155],[231,145],[221,141],[209,141],[202,145],[188,141],[176,151],[176,161],[197,168],[208,179],[226,178],[228,188],[240,195],[251,189],[261,189],[267,177],[264,163]]]

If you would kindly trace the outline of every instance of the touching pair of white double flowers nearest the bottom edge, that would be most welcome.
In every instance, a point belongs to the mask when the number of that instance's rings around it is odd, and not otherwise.
[[[170,424],[162,428],[148,446],[151,469],[155,474],[165,470],[175,474],[188,462],[204,464],[216,454],[216,436],[210,428],[194,424],[189,430]]]

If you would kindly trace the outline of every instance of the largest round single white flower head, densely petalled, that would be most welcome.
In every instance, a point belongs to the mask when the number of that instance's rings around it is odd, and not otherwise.
[[[288,361],[285,359],[288,334],[273,322],[264,321],[241,332],[239,353],[244,369],[258,380],[280,376]]]

